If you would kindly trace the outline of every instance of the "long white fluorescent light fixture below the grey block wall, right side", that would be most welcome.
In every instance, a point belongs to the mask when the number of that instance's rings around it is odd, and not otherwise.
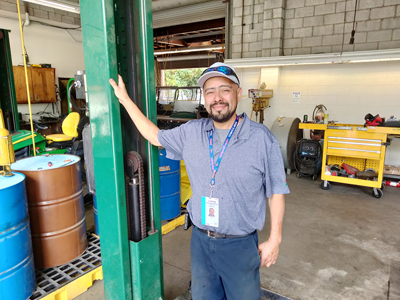
[[[400,49],[357,51],[343,53],[323,53],[257,58],[225,59],[234,67],[266,67],[303,64],[329,64],[400,60]]]

